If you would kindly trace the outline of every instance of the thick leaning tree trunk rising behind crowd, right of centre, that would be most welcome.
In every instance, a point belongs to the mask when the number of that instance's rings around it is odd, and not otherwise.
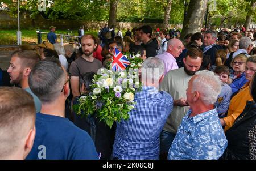
[[[201,31],[207,4],[208,0],[194,0],[189,2],[187,17],[185,17],[183,21],[181,40],[183,40],[188,33]]]

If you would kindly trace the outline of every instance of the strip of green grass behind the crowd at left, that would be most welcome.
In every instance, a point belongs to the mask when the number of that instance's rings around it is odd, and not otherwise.
[[[42,32],[49,32],[49,30],[40,30]],[[16,45],[17,30],[0,30],[0,45]],[[36,35],[36,30],[21,30],[22,32],[22,44],[37,44],[38,38]],[[55,33],[58,34],[67,34],[67,30],[56,30]],[[74,36],[77,36],[77,31],[73,31]],[[85,34],[91,34],[97,37],[97,31],[85,31]],[[60,36],[57,36],[60,42]],[[42,40],[46,40],[47,35],[42,34]]]

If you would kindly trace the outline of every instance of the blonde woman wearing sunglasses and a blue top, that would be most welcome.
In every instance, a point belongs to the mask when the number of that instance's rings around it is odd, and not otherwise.
[[[229,85],[232,88],[232,93],[238,91],[248,81],[245,78],[245,63],[247,57],[244,54],[238,54],[233,58],[230,66],[232,66],[234,73],[232,76],[232,83]]]

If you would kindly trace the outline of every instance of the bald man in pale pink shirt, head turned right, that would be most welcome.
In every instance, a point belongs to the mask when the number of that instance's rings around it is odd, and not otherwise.
[[[167,50],[163,54],[157,55],[159,59],[162,59],[164,62],[164,75],[170,70],[178,69],[176,62],[177,57],[182,52],[183,44],[179,39],[170,39],[167,43]]]

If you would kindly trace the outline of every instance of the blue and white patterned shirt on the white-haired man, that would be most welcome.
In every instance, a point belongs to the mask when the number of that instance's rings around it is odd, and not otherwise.
[[[189,117],[183,117],[168,159],[218,159],[224,153],[228,141],[221,127],[216,109]]]

